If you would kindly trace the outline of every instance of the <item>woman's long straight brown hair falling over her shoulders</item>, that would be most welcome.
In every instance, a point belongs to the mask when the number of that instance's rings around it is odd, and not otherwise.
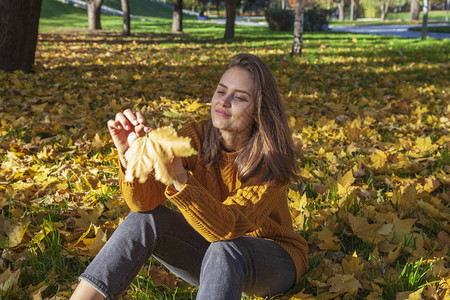
[[[247,144],[235,160],[240,179],[260,176],[266,183],[287,183],[296,178],[295,148],[275,78],[267,64],[252,54],[234,56],[225,71],[234,67],[252,74],[256,91],[255,123]],[[210,121],[202,157],[209,166],[217,166],[221,150],[220,132]]]

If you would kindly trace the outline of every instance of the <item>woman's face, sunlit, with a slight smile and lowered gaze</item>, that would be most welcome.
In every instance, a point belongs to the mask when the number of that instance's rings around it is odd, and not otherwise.
[[[224,134],[248,138],[254,123],[255,83],[250,72],[239,67],[225,71],[211,101],[211,119]]]

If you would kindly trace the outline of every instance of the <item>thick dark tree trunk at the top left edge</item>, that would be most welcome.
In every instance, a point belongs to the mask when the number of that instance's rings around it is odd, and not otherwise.
[[[31,72],[42,0],[0,0],[0,69]]]

